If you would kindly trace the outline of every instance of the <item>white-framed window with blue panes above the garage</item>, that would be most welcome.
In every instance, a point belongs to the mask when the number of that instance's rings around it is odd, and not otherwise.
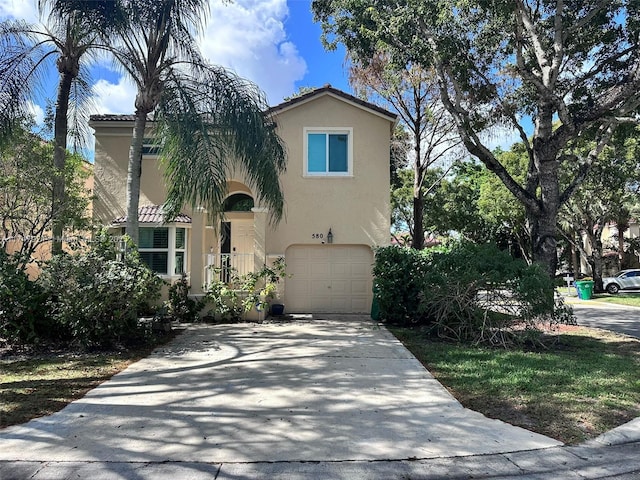
[[[305,128],[305,176],[352,175],[352,137],[351,128]]]

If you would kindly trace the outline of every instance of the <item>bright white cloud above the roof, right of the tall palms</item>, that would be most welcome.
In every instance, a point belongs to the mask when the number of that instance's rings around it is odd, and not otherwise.
[[[287,41],[286,0],[211,0],[211,17],[200,39],[205,57],[266,92],[270,104],[295,91],[307,70],[296,46]]]

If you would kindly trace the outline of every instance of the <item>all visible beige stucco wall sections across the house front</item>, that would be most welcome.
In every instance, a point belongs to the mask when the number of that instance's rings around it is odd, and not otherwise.
[[[320,244],[331,228],[335,244],[387,245],[390,241],[389,138],[392,121],[332,95],[319,95],[276,115],[278,133],[288,151],[287,172],[281,177],[285,214],[277,225],[268,223],[256,205],[252,215],[256,250],[262,258],[285,254],[290,245]],[[128,152],[133,122],[99,121],[96,130],[94,218],[109,224],[126,213]],[[353,175],[349,177],[304,176],[304,128],[351,129]],[[253,195],[241,176],[230,179],[229,194]],[[142,165],[140,205],[161,205],[166,197],[164,179],[154,156]],[[188,270],[193,292],[201,291],[205,255],[218,252],[217,228],[206,214],[182,211],[193,218],[189,234]],[[209,225],[211,227],[211,225]],[[217,227],[217,226],[216,226]],[[314,238],[322,234],[323,239]]]

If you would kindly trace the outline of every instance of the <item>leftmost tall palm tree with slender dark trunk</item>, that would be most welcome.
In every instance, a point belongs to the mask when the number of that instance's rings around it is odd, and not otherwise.
[[[21,118],[29,115],[29,100],[47,78],[46,71],[55,63],[59,74],[54,110],[54,180],[51,212],[53,217],[52,253],[62,251],[65,211],[65,156],[69,121],[75,139],[82,139],[86,119],[82,104],[90,94],[86,59],[102,48],[98,41],[97,3],[84,2],[71,8],[63,0],[38,0],[38,11],[45,22],[31,25],[20,20],[0,22],[0,136],[5,137]],[[91,7],[91,5],[94,7]],[[91,7],[91,8],[90,8]],[[73,108],[69,108],[70,105]]]

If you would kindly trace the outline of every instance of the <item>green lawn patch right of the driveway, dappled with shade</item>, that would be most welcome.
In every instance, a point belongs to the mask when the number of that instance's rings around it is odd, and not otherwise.
[[[640,416],[640,340],[564,327],[544,351],[434,341],[388,327],[465,407],[567,444]]]

